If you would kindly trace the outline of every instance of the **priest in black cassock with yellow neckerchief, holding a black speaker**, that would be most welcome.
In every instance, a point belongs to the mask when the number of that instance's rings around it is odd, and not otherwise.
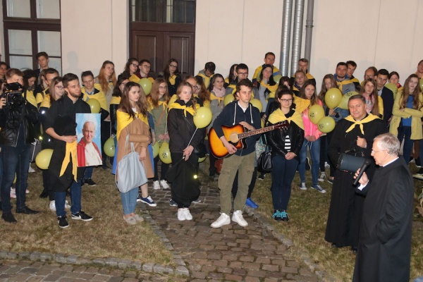
[[[336,124],[329,145],[329,158],[338,164],[343,153],[357,157],[370,157],[373,139],[386,133],[386,123],[379,117],[367,114],[366,102],[362,95],[350,97],[348,102],[350,116]],[[373,176],[374,162],[367,169],[367,175]],[[350,246],[357,250],[358,235],[362,217],[364,196],[355,193],[354,173],[337,170],[331,195],[325,240],[333,247]]]

